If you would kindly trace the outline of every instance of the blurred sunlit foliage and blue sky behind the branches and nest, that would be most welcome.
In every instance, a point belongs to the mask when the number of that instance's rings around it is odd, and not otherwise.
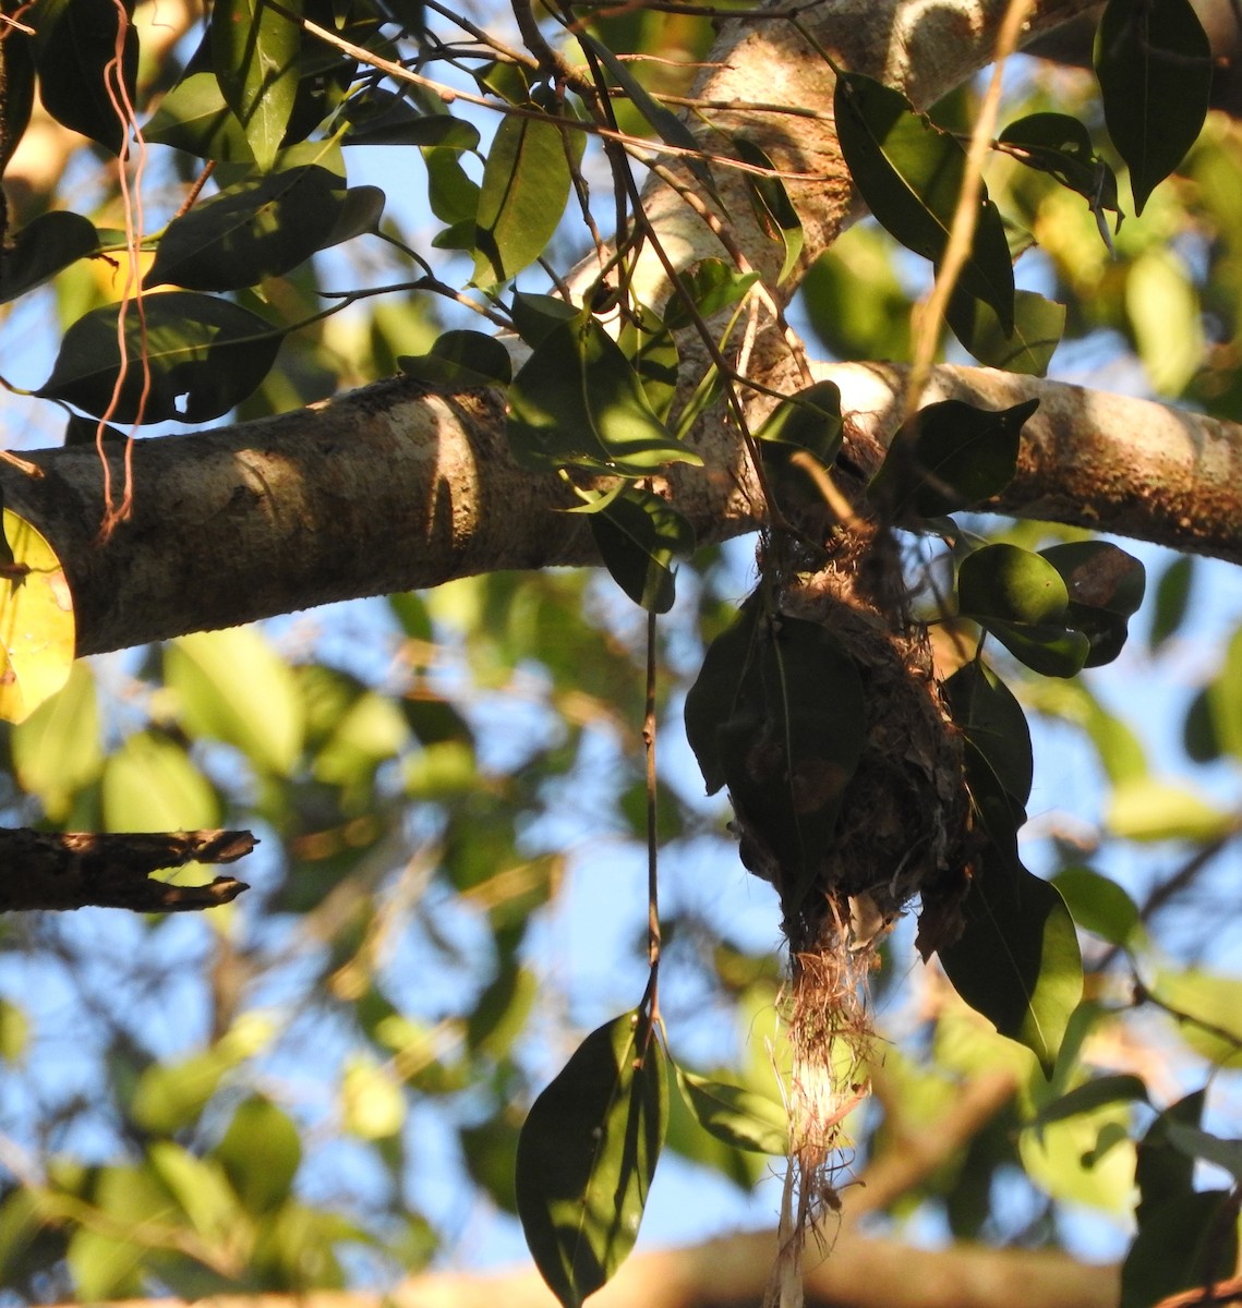
[[[686,90],[711,35],[641,10],[598,30],[614,50],[667,60],[633,65],[666,93]],[[149,99],[185,58],[175,46],[145,71]],[[1017,60],[1010,80],[1009,118],[1076,112],[1103,140],[1086,75]],[[967,120],[971,97],[937,116]],[[645,128],[636,115],[623,126]],[[400,167],[385,230],[423,249],[429,218],[411,196],[425,179]],[[185,179],[154,171],[152,212],[161,200],[170,212]],[[1237,123],[1209,119],[1143,221],[1115,234],[1115,255],[1051,179],[997,156],[988,186],[1038,239],[1020,284],[1068,306],[1055,375],[1242,420]],[[10,186],[22,222],[58,194],[119,224],[89,150],[52,188]],[[330,251],[257,294],[309,315],[325,290],[399,280],[393,249]],[[555,262],[581,249],[567,224]],[[445,280],[461,280],[459,259],[444,258]],[[821,352],[903,358],[924,290],[915,260],[861,222],[807,277],[793,318]],[[115,294],[105,263],[68,267],[13,306],[7,360],[46,351],[44,323],[59,335]],[[285,341],[238,417],[391,374],[459,322],[411,294],[321,319]],[[5,403],[21,443],[59,436],[42,408]],[[1072,539],[971,526],[1030,548]],[[775,896],[738,862],[725,807],[701,798],[681,727],[703,649],[753,579],[747,548],[696,555],[660,623],[662,1008],[684,1065],[771,1095]],[[920,1239],[1116,1257],[1133,1231],[1136,1142],[1162,1109],[1208,1084],[1204,1124],[1242,1134],[1242,583],[1224,565],[1143,556],[1153,585],[1115,667],[1050,683],[1005,663],[1035,730],[1025,850],[1064,892],[1088,967],[1052,1082],[934,965],[912,961],[908,923],[885,947],[856,1162],[899,1148],[983,1071],[1008,1066],[1021,1083],[962,1158],[876,1219]],[[0,1298],[300,1292],[520,1256],[523,1113],[645,977],[644,629],[602,577],[479,577],[94,658],[29,721],[0,727],[8,824],[229,825],[262,840],[240,870],[251,891],[202,917],[88,909],[0,923]],[[1067,1112],[1063,1096],[1091,1086]],[[768,1224],[772,1164],[673,1112],[681,1163],[664,1164],[644,1237]]]

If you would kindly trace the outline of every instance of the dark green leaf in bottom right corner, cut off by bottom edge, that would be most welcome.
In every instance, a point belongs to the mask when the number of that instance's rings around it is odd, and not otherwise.
[[[1224,1190],[1200,1190],[1170,1199],[1140,1222],[1122,1266],[1119,1308],[1154,1308],[1180,1290],[1229,1275],[1238,1243],[1229,1218]]]

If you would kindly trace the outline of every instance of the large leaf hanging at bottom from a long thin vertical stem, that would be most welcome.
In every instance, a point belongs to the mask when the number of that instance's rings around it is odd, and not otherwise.
[[[517,1209],[565,1308],[633,1248],[669,1117],[664,1049],[627,1012],[592,1032],[534,1101],[517,1147]]]

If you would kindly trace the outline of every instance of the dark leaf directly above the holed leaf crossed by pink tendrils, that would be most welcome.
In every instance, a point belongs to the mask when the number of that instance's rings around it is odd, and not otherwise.
[[[145,285],[236,290],[279,277],[332,243],[340,177],[309,166],[226,187],[169,224]]]

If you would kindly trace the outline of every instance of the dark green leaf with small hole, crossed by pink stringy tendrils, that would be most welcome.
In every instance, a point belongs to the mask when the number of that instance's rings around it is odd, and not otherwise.
[[[283,334],[226,300],[171,290],[147,297],[144,305],[151,388],[141,408],[143,422],[220,417],[250,395],[275,362]],[[110,408],[120,371],[116,313],[115,305],[96,309],[69,327],[52,374],[37,395],[67,400],[94,415]],[[144,386],[144,334],[133,305],[124,337],[128,362],[111,417],[135,422]]]

